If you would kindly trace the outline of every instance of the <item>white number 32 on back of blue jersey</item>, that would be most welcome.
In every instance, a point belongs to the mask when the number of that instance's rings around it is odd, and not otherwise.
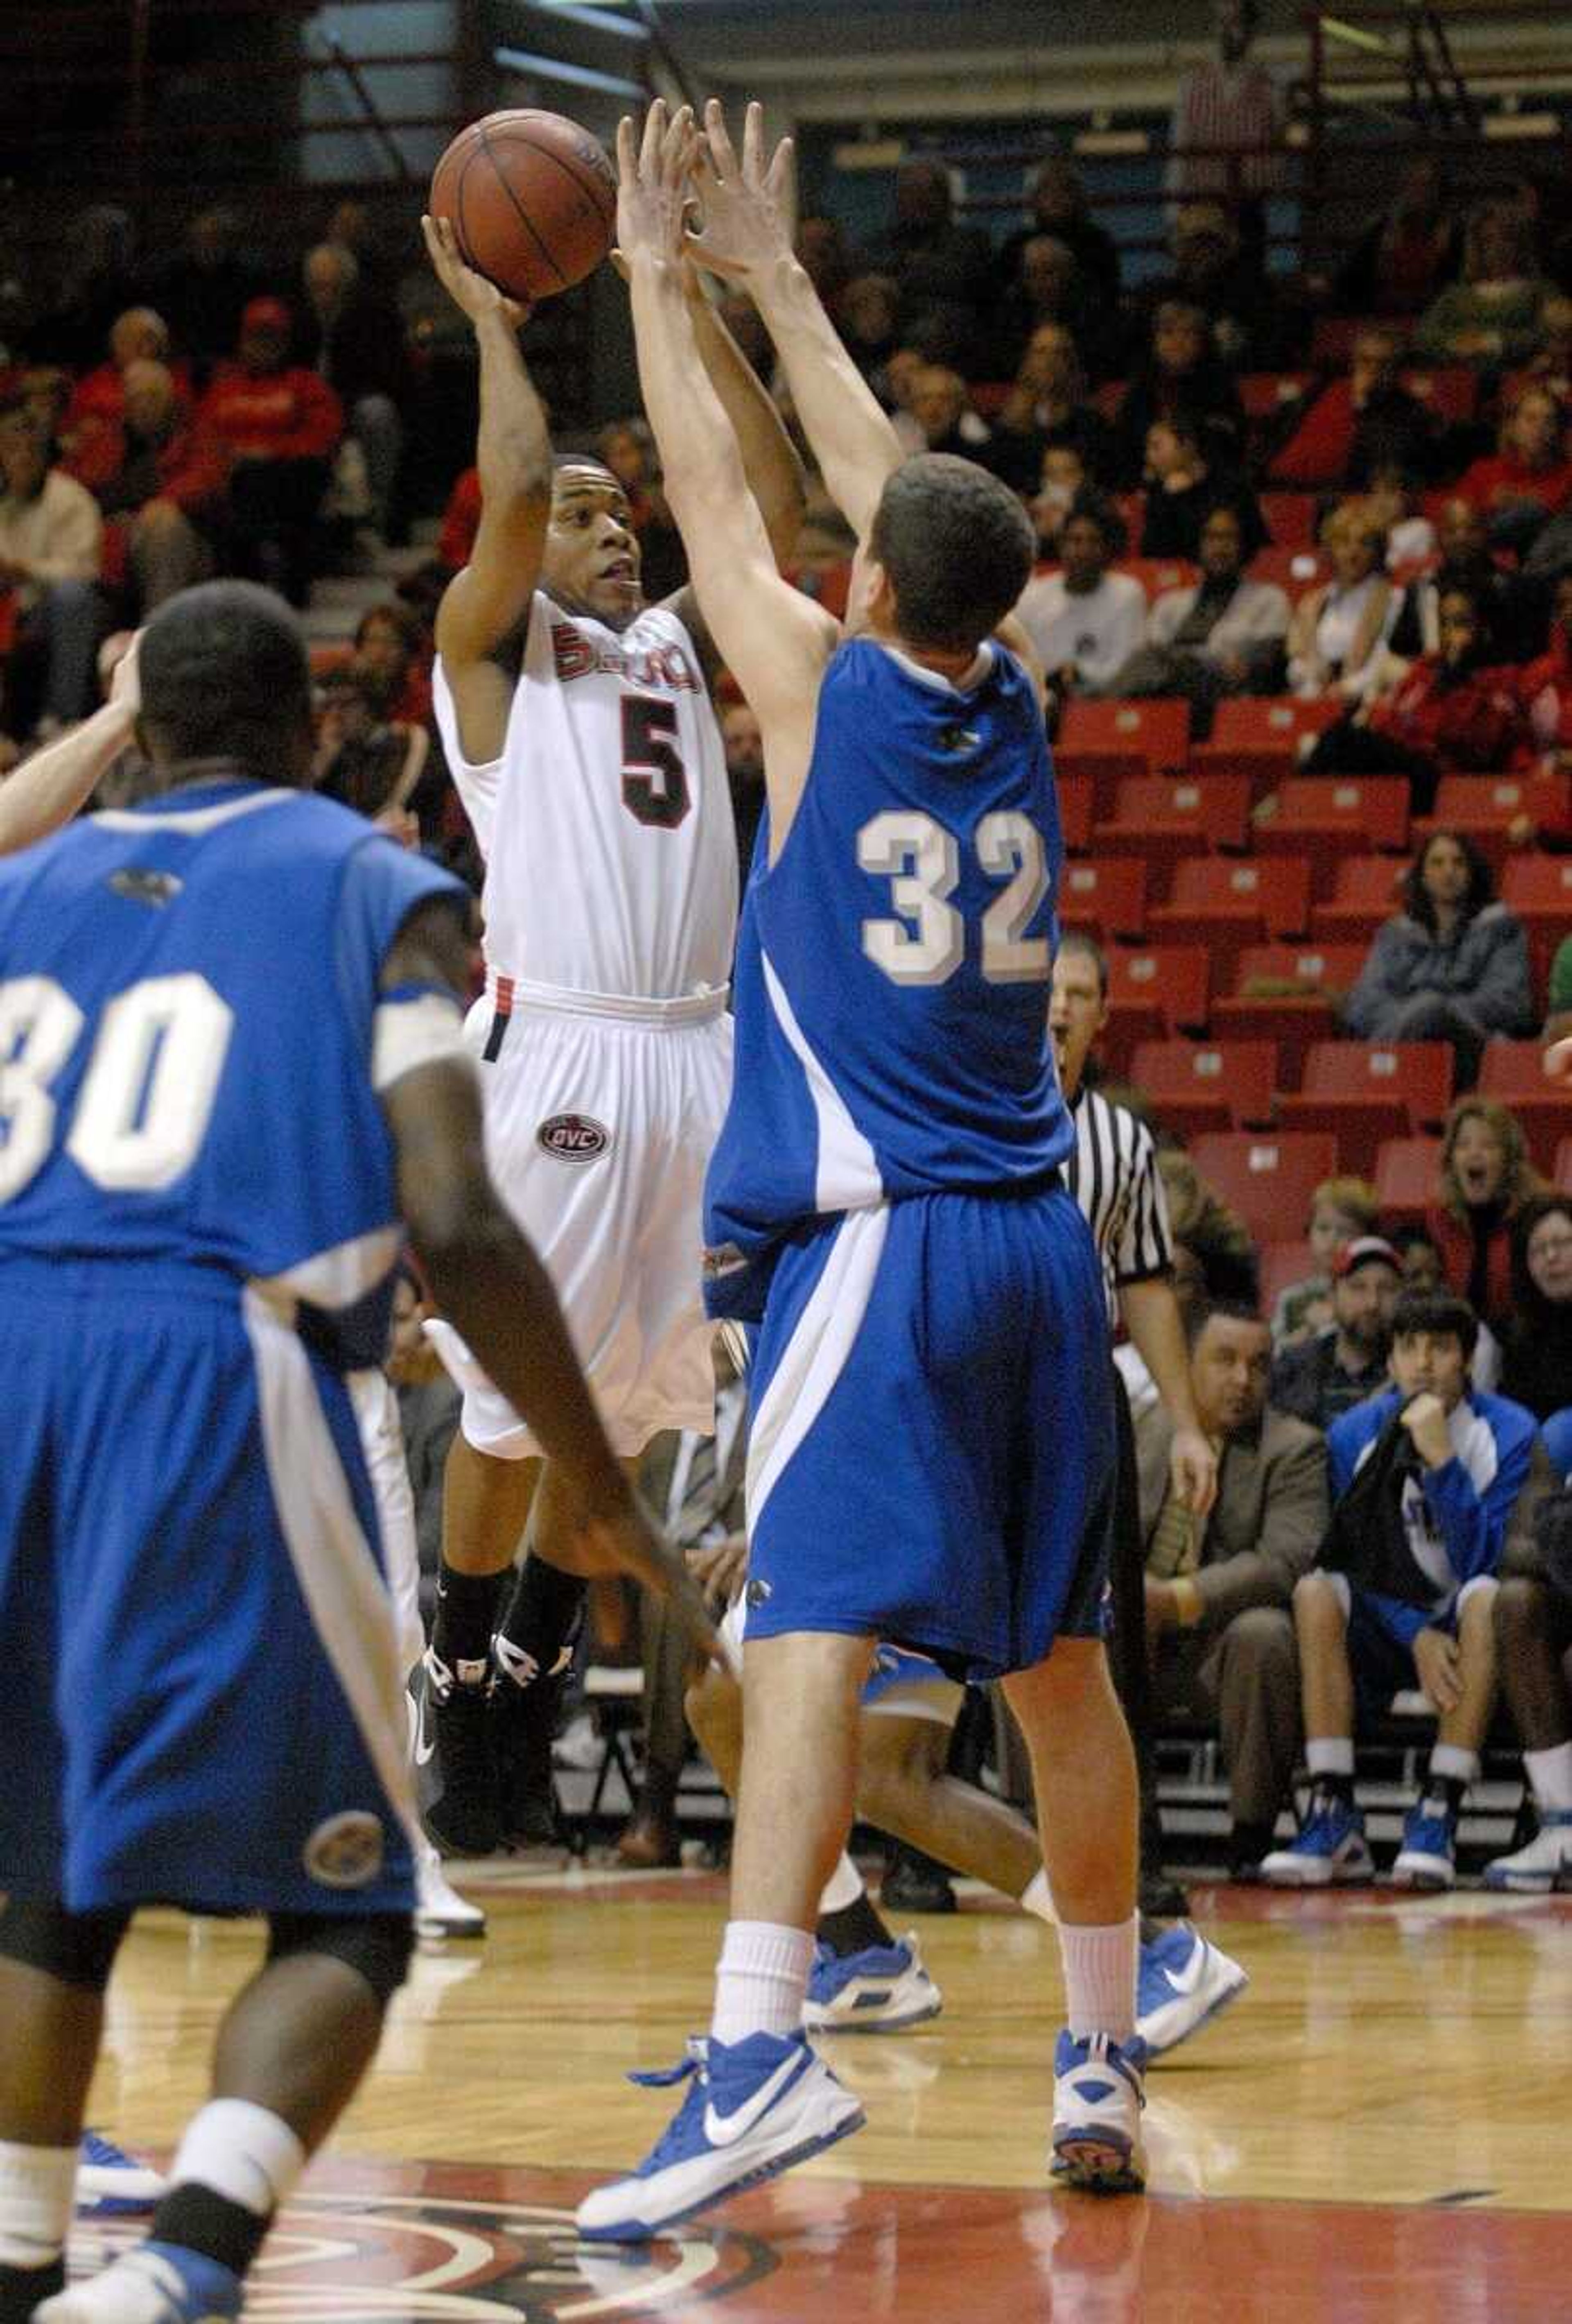
[[[1008,881],[982,913],[982,974],[991,985],[1045,983],[1047,937],[1026,937],[1047,895],[1043,832],[1019,809],[985,816],[973,834],[978,862]],[[950,897],[961,883],[961,848],[933,816],[887,809],[857,832],[857,862],[889,881],[899,920],[864,920],[861,948],[896,985],[943,985],[966,957],[966,920]]]

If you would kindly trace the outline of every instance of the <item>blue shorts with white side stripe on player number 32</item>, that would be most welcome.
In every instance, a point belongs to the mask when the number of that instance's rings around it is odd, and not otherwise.
[[[748,1636],[882,1638],[975,1680],[1103,1636],[1110,1383],[1061,1188],[803,1222],[750,1371]]]

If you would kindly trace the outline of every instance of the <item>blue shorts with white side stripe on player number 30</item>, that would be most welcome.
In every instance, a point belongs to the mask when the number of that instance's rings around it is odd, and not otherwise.
[[[0,1264],[0,1889],[413,1906],[406,1710],[344,1380],[200,1267]]]

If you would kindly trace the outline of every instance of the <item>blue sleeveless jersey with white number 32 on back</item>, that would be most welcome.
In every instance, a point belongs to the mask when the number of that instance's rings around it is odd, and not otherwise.
[[[901,1195],[1040,1178],[1075,1132],[1047,1041],[1061,839],[1043,716],[1001,646],[957,690],[852,639],[820,688],[778,862],[759,832],[736,1088],[708,1176],[727,1246]]]

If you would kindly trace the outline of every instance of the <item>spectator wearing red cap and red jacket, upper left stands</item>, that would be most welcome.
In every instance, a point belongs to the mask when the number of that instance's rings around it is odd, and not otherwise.
[[[283,300],[251,300],[241,314],[237,360],[214,372],[197,418],[230,453],[237,567],[302,604],[344,409],[325,379],[288,360],[288,346],[290,309]]]

